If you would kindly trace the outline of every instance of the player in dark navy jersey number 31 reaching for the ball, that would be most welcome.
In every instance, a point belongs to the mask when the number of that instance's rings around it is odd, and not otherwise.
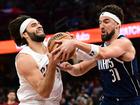
[[[119,34],[123,18],[120,7],[107,5],[101,9],[99,16],[99,28],[104,42],[101,46],[63,40],[57,41],[62,44],[52,52],[63,52],[62,61],[68,59],[75,48],[93,57],[79,64],[65,62],[60,66],[71,75],[79,76],[97,65],[104,90],[100,105],[140,105],[140,82],[136,77],[138,69],[134,66],[136,51],[131,41]]]

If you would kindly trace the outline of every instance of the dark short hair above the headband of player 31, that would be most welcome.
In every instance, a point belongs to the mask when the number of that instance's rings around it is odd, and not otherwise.
[[[110,12],[110,13],[116,15],[121,20],[121,23],[124,22],[123,10],[115,4],[106,5],[105,7],[103,7],[101,9],[101,13],[103,13],[103,12]]]

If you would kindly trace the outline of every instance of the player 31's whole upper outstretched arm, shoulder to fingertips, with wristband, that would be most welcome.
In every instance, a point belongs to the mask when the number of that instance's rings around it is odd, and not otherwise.
[[[67,60],[68,55],[75,49],[79,48],[84,52],[98,57],[98,59],[107,59],[113,57],[121,57],[124,61],[130,61],[135,56],[135,49],[127,38],[116,39],[109,46],[100,47],[95,44],[87,44],[76,39],[59,41],[62,43],[52,53],[61,53],[62,61]],[[93,57],[93,58],[94,58]]]

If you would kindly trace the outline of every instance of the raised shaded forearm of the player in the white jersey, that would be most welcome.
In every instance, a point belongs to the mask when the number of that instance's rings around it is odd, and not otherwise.
[[[45,73],[45,77],[38,85],[39,86],[38,91],[42,97],[48,98],[50,96],[55,81],[55,72],[56,65],[53,64],[52,66],[52,63],[49,63],[47,72]]]

